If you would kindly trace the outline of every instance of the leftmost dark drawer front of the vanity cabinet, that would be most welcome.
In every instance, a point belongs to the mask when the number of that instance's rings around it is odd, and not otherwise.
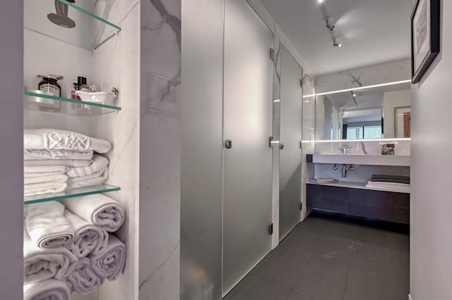
[[[307,206],[338,213],[348,213],[349,189],[326,185],[307,185]]]

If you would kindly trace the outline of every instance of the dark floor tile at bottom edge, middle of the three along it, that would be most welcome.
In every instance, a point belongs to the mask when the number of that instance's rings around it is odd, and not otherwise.
[[[293,291],[312,300],[338,300],[343,298],[347,284],[347,268],[324,261],[308,263]]]

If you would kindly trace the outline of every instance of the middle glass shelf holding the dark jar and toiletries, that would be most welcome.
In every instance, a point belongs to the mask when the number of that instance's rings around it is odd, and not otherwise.
[[[119,106],[100,104],[96,102],[78,101],[34,92],[24,92],[24,108],[28,111],[41,111],[44,113],[64,113],[94,117],[121,111]]]

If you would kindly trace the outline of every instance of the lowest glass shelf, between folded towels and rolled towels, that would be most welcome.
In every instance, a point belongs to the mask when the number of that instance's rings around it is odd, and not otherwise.
[[[117,192],[121,190],[120,187],[114,185],[93,185],[92,187],[80,187],[78,189],[68,189],[61,193],[44,194],[39,196],[25,197],[23,204],[35,204],[46,201],[64,200],[74,197],[87,196],[92,194],[101,194],[107,192]]]

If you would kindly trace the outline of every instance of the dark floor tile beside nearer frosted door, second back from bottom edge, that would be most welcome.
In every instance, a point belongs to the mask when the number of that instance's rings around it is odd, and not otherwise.
[[[285,289],[292,289],[312,254],[295,249],[275,249],[253,275]]]

